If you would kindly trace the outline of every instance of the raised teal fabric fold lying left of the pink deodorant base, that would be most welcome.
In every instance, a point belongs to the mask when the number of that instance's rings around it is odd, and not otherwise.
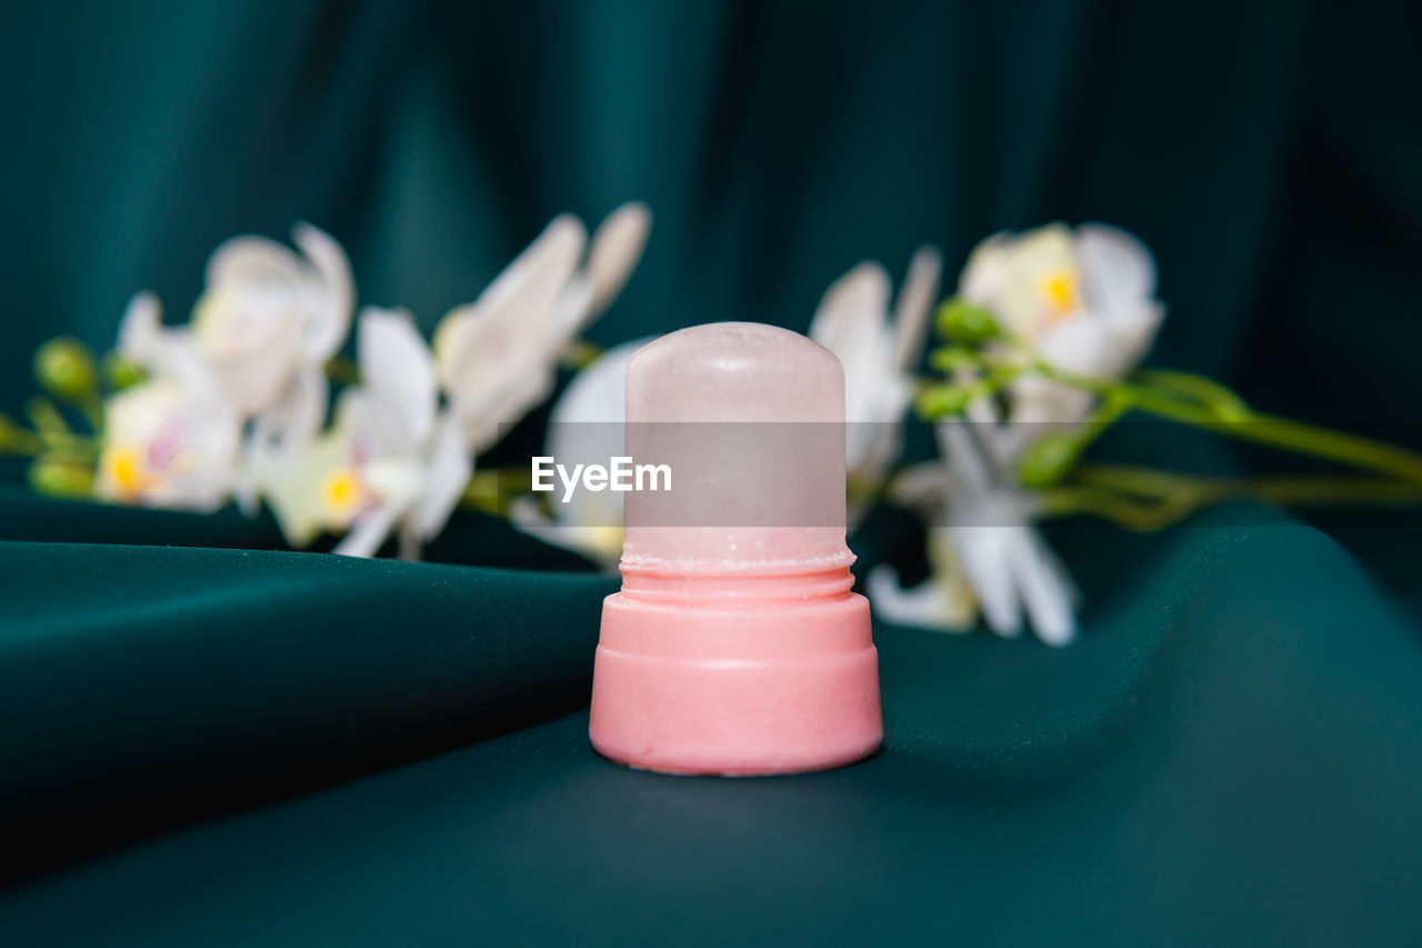
[[[616,588],[88,544],[0,542],[0,571],[7,877],[574,710]]]

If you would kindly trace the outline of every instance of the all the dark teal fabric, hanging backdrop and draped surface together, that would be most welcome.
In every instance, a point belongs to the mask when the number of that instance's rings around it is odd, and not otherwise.
[[[232,233],[310,219],[363,302],[429,329],[553,214],[641,198],[653,241],[602,343],[803,329],[865,256],[936,241],[953,268],[1000,228],[1103,219],[1156,251],[1156,364],[1422,446],[1419,20],[11,4],[0,410],[40,340],[107,346],[134,290],[181,319]],[[1315,522],[1061,525],[1079,643],[879,628],[882,754],[721,781],[593,754],[611,584],[508,525],[458,518],[444,565],[350,562],[266,518],[7,487],[0,944],[1416,944],[1422,521]],[[912,562],[914,538],[882,511],[853,545]]]

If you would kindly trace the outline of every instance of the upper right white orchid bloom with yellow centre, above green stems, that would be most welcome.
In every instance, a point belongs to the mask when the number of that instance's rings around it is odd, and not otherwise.
[[[990,309],[1052,366],[1119,377],[1155,340],[1165,306],[1155,299],[1150,251],[1119,228],[1052,223],[1000,233],[973,251],[958,295]],[[1091,396],[1032,377],[1011,389],[1011,421],[1076,421]]]

